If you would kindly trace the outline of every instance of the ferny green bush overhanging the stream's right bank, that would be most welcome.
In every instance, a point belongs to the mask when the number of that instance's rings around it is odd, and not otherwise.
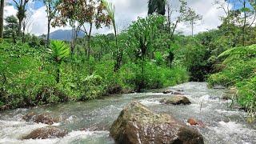
[[[225,65],[224,70],[208,78],[210,86],[236,86],[238,103],[249,111],[251,118],[256,114],[256,45],[236,47],[218,56]]]

